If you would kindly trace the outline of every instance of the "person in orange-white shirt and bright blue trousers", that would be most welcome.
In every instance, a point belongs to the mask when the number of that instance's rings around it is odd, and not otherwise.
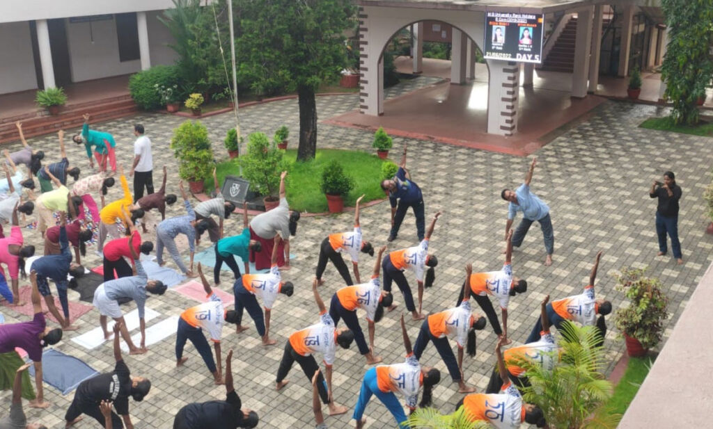
[[[441,381],[441,371],[419,364],[419,359],[416,359],[411,350],[411,340],[409,334],[406,333],[403,313],[401,314],[401,336],[404,338],[406,361],[403,364],[377,365],[364,374],[359,399],[356,400],[352,415],[352,418],[356,420],[356,429],[363,428],[366,423],[366,418],[363,417],[364,410],[366,410],[371,395],[379,398],[379,401],[389,409],[399,428],[404,427],[402,424],[406,421],[406,414],[399,399],[396,398],[396,392],[406,396],[406,406],[414,411],[416,403],[419,402],[419,390],[421,386],[424,386],[424,395],[421,397],[419,406],[431,405],[433,388],[438,381]]]

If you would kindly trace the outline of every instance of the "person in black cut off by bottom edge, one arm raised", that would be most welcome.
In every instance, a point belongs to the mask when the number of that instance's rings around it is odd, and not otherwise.
[[[241,409],[240,396],[232,386],[232,349],[225,359],[225,401],[189,403],[178,411],[173,429],[255,428],[260,418],[255,411]]]

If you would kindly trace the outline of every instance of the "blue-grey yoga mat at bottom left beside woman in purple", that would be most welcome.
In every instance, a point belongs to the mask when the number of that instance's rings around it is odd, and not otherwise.
[[[30,366],[28,372],[34,377],[35,367]],[[82,381],[98,375],[91,366],[61,351],[49,349],[42,354],[42,380],[63,395],[76,389]]]

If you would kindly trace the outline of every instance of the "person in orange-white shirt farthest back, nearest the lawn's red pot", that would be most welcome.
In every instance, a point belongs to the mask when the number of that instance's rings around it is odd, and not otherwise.
[[[322,285],[324,280],[322,280],[322,274],[324,274],[324,269],[327,268],[327,259],[331,260],[334,266],[339,271],[339,275],[342,276],[344,282],[348,286],[354,285],[352,281],[352,276],[349,275],[349,268],[347,264],[344,263],[342,259],[342,250],[349,253],[352,257],[352,267],[354,268],[354,277],[356,277],[356,282],[361,283],[361,277],[359,277],[359,252],[368,253],[369,256],[374,256],[374,247],[368,241],[361,240],[361,226],[359,226],[359,202],[364,195],[356,198],[356,208],[354,209],[354,231],[349,231],[348,233],[336,233],[329,234],[327,238],[322,240],[322,245],[319,248],[319,262],[317,262],[317,272],[315,276],[317,277],[318,285]]]

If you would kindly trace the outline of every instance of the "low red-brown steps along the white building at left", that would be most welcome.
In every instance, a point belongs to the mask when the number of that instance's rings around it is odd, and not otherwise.
[[[134,115],[138,106],[130,95],[93,100],[76,105],[67,105],[62,108],[59,115],[51,116],[45,110],[27,112],[14,117],[0,118],[0,144],[19,140],[15,122],[22,122],[22,131],[26,138],[56,132],[64,129],[74,132],[82,126],[83,114],[89,113],[92,122],[113,120],[119,117]]]

